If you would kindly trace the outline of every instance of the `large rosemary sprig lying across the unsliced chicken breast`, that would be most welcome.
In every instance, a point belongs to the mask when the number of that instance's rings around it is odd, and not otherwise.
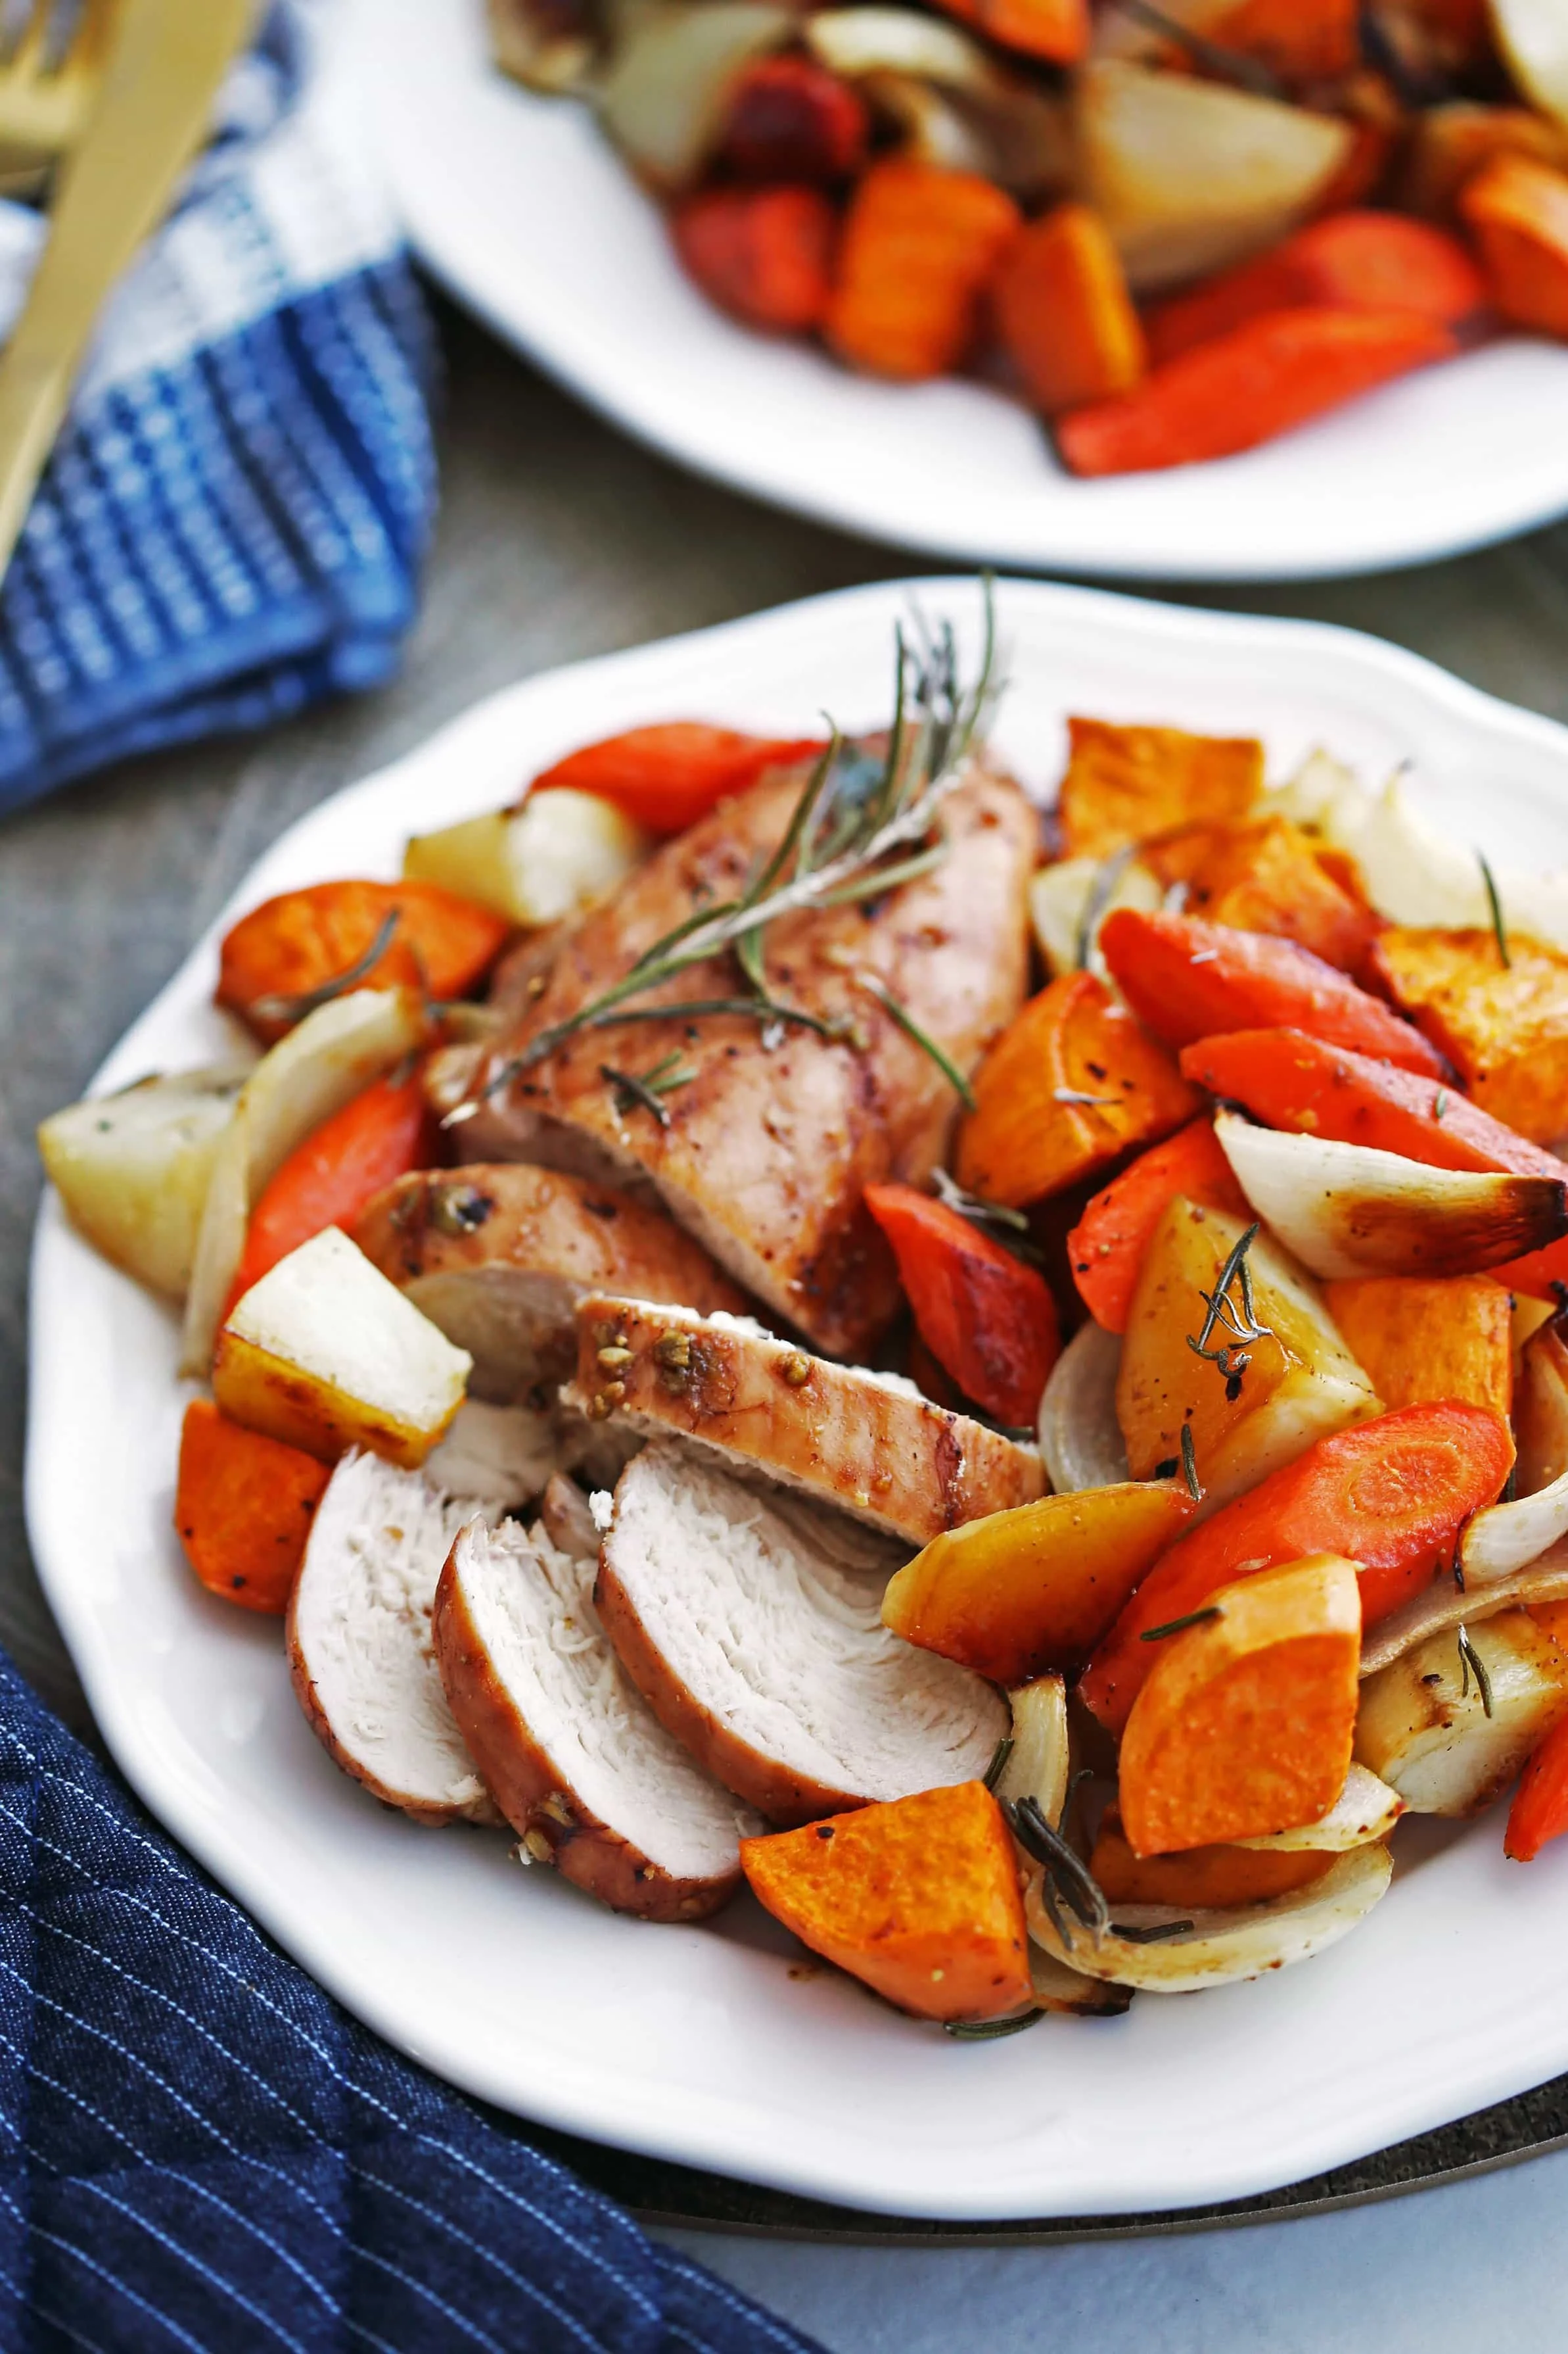
[[[560,1022],[551,1022],[527,1040],[520,1055],[504,1062],[485,1083],[485,1095],[506,1088],[523,1071],[544,1062],[584,1029],[603,1029],[610,1022],[631,1019],[690,1019],[697,1012],[749,1012],[758,1022],[798,1022],[819,1036],[850,1040],[848,1024],[831,1024],[800,1008],[782,1005],[768,996],[765,986],[765,932],[784,916],[817,911],[824,906],[848,906],[857,899],[878,897],[925,873],[944,857],[946,845],[932,836],[942,814],[942,803],[963,779],[963,763],[977,727],[984,723],[994,699],[996,671],[996,610],[991,581],[984,581],[984,650],[979,676],[972,687],[958,678],[958,652],[949,624],[932,638],[921,624],[923,647],[911,661],[904,638],[897,638],[895,716],[888,753],[869,793],[848,789],[838,774],[843,739],[833,730],[831,742],[808,777],[800,798],[789,817],[784,838],[763,864],[739,899],[699,909],[655,939],[638,960],[603,989],[586,1005],[579,1005]],[[913,683],[909,678],[913,669]],[[913,699],[916,723],[909,723]],[[841,791],[843,784],[843,791]],[[843,807],[833,807],[843,800]],[[829,812],[831,819],[829,819]],[[824,829],[824,819],[829,819]],[[895,852],[909,852],[897,857]],[[697,1005],[650,1005],[631,1008],[631,998],[645,998],[664,982],[704,965],[720,953],[735,953],[751,998],[706,998]],[[913,1022],[881,982],[859,977],[883,1010],[906,1031],[916,1045],[930,1055],[944,1078],[970,1102],[963,1073],[949,1062],[932,1038]]]

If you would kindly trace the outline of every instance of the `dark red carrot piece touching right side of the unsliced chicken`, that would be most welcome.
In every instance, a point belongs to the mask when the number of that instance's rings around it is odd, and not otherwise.
[[[1062,1337],[1043,1276],[909,1184],[869,1184],[866,1210],[892,1243],[921,1339],[965,1396],[1034,1429]]]

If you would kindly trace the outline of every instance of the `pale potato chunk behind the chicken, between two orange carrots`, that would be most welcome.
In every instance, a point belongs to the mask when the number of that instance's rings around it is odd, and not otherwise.
[[[647,836],[614,803],[558,786],[530,793],[520,810],[417,833],[403,873],[537,930],[607,899],[645,857]]]

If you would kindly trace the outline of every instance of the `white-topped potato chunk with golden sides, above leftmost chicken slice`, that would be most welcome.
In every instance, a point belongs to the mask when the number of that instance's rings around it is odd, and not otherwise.
[[[235,1422],[323,1462],[370,1448],[414,1471],[457,1415],[471,1368],[466,1349],[327,1226],[235,1302],[212,1394]]]

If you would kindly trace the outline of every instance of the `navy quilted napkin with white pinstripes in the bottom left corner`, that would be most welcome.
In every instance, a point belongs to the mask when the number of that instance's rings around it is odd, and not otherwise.
[[[0,2347],[810,2354],[358,2027],[5,1655]]]

